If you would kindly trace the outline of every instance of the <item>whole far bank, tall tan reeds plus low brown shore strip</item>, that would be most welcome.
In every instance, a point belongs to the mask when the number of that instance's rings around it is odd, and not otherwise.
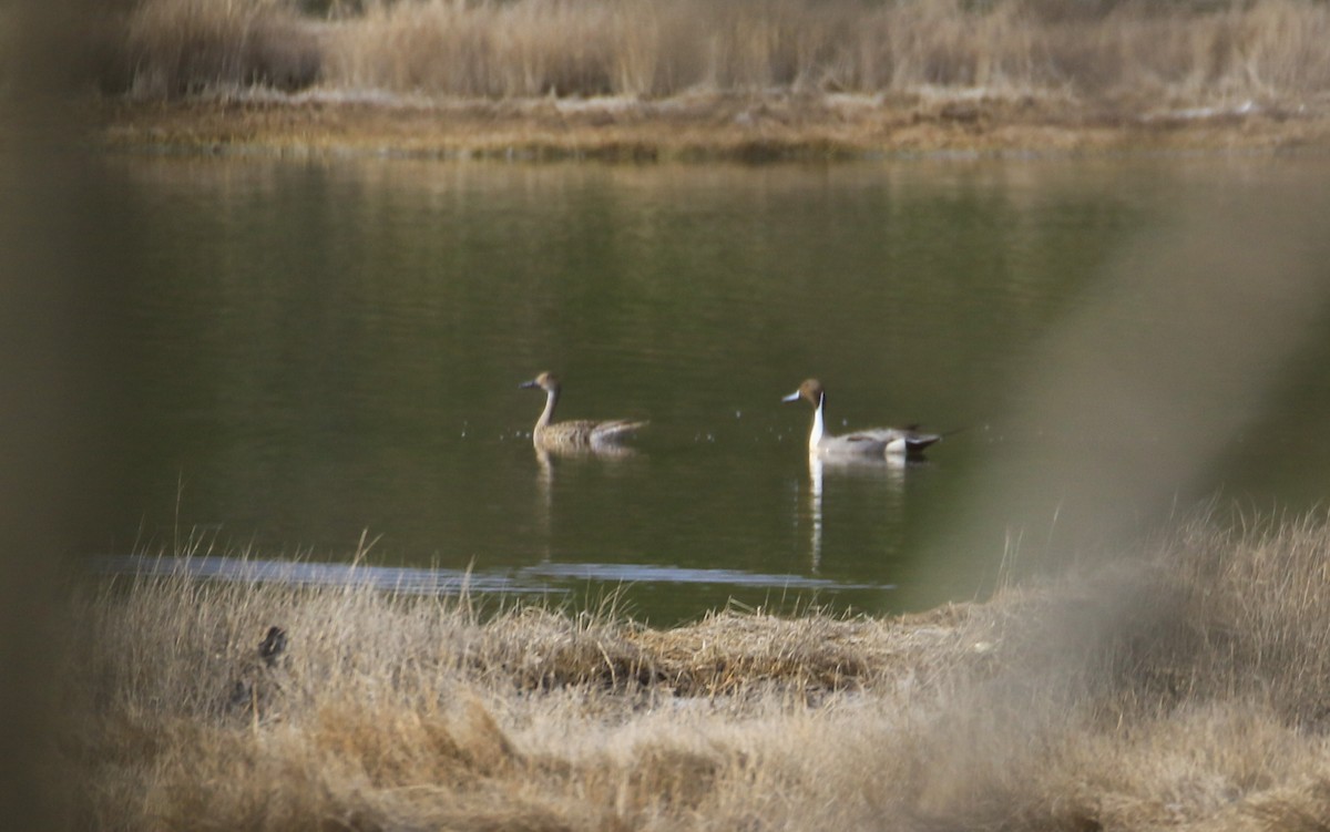
[[[106,20],[117,144],[767,158],[1330,134],[1313,0],[137,0]]]

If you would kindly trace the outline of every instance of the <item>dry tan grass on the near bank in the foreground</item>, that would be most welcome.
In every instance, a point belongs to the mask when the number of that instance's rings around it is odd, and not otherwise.
[[[899,619],[652,630],[368,589],[97,583],[63,686],[72,820],[1325,829],[1330,525],[1236,525]],[[269,666],[274,623],[289,650]]]

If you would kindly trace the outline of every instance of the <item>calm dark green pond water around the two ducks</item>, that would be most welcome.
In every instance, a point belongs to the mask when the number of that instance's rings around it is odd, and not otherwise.
[[[97,553],[882,613],[1330,484],[1325,158],[105,165]],[[637,453],[539,459],[544,369]],[[947,436],[813,467],[809,376],[833,432]]]

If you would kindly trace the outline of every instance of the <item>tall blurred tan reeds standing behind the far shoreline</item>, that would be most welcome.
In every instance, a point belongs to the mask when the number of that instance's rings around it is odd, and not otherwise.
[[[116,24],[134,92],[318,81],[436,97],[696,92],[1301,100],[1330,90],[1310,0],[138,0]],[[1068,12],[1068,9],[1072,9]]]

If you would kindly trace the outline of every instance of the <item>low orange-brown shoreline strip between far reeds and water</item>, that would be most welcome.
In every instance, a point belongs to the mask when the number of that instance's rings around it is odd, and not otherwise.
[[[696,94],[434,100],[263,90],[98,98],[94,146],[279,157],[871,161],[1330,149],[1330,105],[1160,109],[1033,96]]]

